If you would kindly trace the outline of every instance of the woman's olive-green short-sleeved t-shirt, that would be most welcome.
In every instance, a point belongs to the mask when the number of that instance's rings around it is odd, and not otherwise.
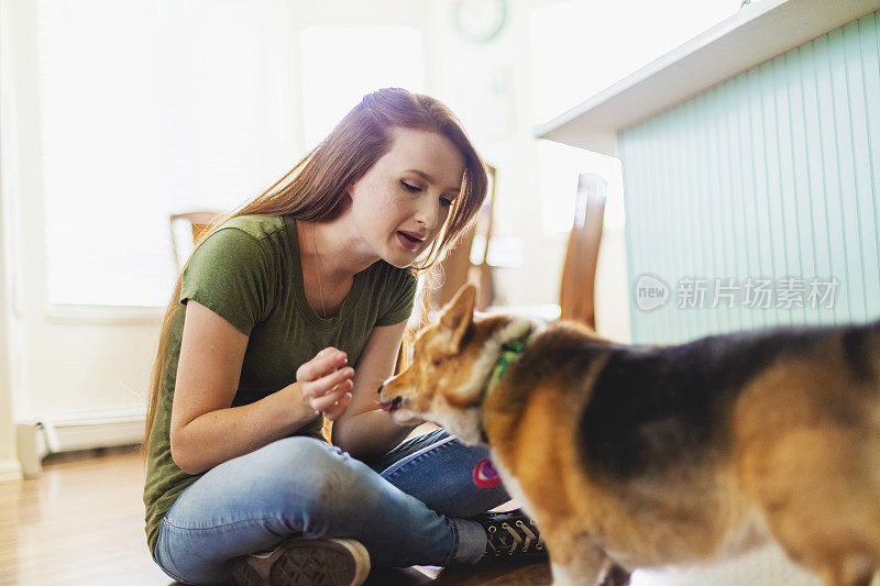
[[[322,319],[306,301],[296,221],[289,215],[233,218],[193,253],[184,269],[179,301],[195,299],[250,335],[233,407],[260,400],[296,380],[297,368],[327,346],[358,358],[376,325],[406,320],[416,279],[378,261],[354,276],[339,316]],[[163,516],[201,475],[183,472],[172,460],[169,424],[180,356],[185,310],[173,316],[168,354],[147,441],[144,483],[146,539],[153,552]],[[321,418],[295,435],[322,438]]]

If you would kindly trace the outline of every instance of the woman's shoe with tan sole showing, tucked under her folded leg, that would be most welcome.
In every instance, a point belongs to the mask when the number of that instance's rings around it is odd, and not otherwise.
[[[241,586],[360,586],[370,574],[370,554],[352,539],[290,539],[272,551],[232,560]]]

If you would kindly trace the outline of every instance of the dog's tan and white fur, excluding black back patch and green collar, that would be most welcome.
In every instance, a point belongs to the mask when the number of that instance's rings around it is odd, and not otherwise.
[[[474,319],[474,294],[462,289],[419,336],[414,364],[381,400],[400,398],[398,422],[426,418],[466,443],[487,441],[505,486],[541,531],[556,583],[598,584],[614,564],[717,560],[768,539],[826,585],[870,582],[880,561],[880,332],[855,339],[854,351],[829,328],[821,343],[756,367],[707,411],[706,445],[622,474],[590,460],[584,413],[612,349],[650,356],[653,347],[558,322],[484,398],[501,344],[528,324]],[[575,346],[590,360],[570,356]],[[639,389],[620,392],[630,391]]]

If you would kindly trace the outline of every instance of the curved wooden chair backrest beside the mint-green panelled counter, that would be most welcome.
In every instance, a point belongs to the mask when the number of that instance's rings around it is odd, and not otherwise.
[[[605,222],[607,183],[594,173],[578,176],[574,225],[569,234],[562,285],[560,318],[586,323],[595,330],[595,287],[598,248]]]

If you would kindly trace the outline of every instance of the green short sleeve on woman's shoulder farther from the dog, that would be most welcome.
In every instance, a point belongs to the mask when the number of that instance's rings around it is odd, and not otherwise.
[[[272,274],[255,237],[234,228],[220,229],[193,252],[179,301],[195,299],[250,335],[270,309]]]

